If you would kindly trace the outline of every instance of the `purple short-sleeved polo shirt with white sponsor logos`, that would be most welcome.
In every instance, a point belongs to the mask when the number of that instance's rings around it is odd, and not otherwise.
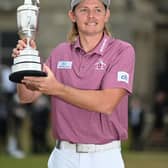
[[[47,60],[57,80],[82,90],[124,88],[128,94],[111,115],[91,112],[52,96],[54,137],[74,143],[102,144],[128,136],[128,95],[132,92],[134,49],[104,35],[97,47],[85,53],[79,39],[58,45]]]

